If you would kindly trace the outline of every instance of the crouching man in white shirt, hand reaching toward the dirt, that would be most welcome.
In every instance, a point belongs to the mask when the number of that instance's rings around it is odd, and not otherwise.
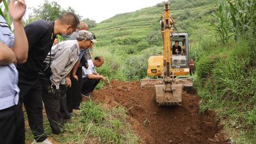
[[[88,68],[83,67],[83,86],[82,94],[84,96],[90,96],[90,92],[93,92],[100,80],[106,81],[106,77],[99,75],[96,68],[102,66],[104,63],[104,58],[102,56],[97,56],[94,60],[88,60]]]

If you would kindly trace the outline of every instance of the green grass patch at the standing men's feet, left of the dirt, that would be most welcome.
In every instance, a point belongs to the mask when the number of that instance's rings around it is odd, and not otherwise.
[[[75,117],[65,123],[64,133],[51,134],[51,128],[44,117],[45,133],[59,143],[139,143],[139,137],[132,131],[123,107],[104,108],[102,104],[86,101]],[[33,134],[26,127],[26,141],[32,141]]]

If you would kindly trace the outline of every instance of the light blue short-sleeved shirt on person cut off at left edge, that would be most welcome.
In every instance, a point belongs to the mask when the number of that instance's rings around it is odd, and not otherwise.
[[[14,36],[10,31],[8,24],[0,15],[0,41],[12,48]],[[19,101],[18,71],[15,65],[0,65],[0,110],[9,108]]]

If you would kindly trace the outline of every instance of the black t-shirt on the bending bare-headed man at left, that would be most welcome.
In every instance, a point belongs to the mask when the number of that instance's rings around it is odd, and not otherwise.
[[[45,57],[50,52],[54,38],[54,22],[38,20],[26,25],[24,28],[28,38],[28,60],[18,64],[19,75],[36,76],[42,68]]]

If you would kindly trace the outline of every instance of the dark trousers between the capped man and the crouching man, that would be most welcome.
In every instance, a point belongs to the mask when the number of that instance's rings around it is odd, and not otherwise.
[[[67,108],[68,112],[72,112],[74,108],[79,107],[81,101],[82,101],[82,67],[78,67],[76,71],[76,75],[78,76],[78,81],[73,78],[73,76],[70,76],[72,85],[67,90]]]

